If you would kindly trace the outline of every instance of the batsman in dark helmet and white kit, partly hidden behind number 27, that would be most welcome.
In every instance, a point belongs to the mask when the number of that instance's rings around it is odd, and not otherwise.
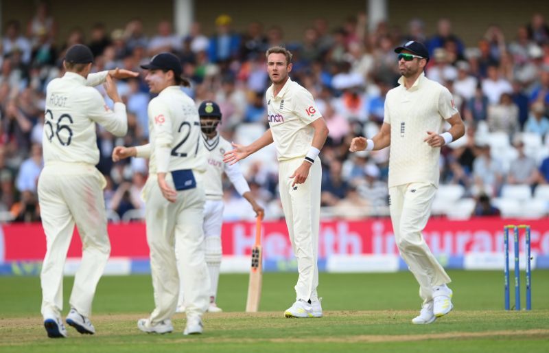
[[[248,182],[237,165],[223,163],[226,151],[231,150],[229,141],[221,137],[217,127],[221,122],[221,110],[215,102],[205,101],[198,107],[200,128],[204,137],[204,146],[207,152],[208,165],[205,174],[206,203],[204,208],[204,236],[206,264],[210,275],[210,304],[209,312],[221,312],[216,304],[218,294],[219,269],[222,258],[221,227],[223,225],[223,185],[222,176],[226,174],[236,191],[252,205],[256,216],[263,216],[264,209],[259,206],[250,192]],[[178,267],[180,269],[180,267]],[[180,279],[180,294],[177,312],[185,311],[183,297],[185,282]]]

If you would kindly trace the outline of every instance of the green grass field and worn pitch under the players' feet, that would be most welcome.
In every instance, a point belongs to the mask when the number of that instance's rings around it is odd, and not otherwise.
[[[205,334],[184,337],[185,315],[172,334],[144,334],[136,321],[152,310],[150,276],[103,277],[94,301],[97,334],[47,339],[38,277],[0,277],[0,352],[547,352],[549,271],[533,271],[531,312],[505,312],[501,271],[451,271],[454,311],[431,325],[412,325],[420,299],[410,273],[320,273],[322,319],[285,319],[294,273],[264,275],[261,312],[244,313],[247,275],[222,275],[220,314]],[[65,279],[67,314],[72,277]],[[524,306],[524,278],[523,306]],[[513,289],[513,288],[512,288]],[[512,294],[511,294],[512,295]],[[514,303],[513,296],[511,301]]]

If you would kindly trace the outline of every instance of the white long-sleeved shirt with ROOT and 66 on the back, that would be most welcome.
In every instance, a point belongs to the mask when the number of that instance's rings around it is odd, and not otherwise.
[[[43,132],[44,162],[99,163],[95,123],[116,136],[128,131],[126,105],[115,103],[114,111],[101,93],[91,87],[105,81],[108,71],[84,78],[67,72],[51,80],[46,89]]]

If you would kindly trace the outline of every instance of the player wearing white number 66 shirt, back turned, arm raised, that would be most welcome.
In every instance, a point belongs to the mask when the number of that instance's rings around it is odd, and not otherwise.
[[[73,45],[67,50],[66,73],[46,89],[43,151],[45,166],[38,179],[38,201],[47,251],[40,273],[42,315],[48,337],[67,337],[60,316],[63,308],[63,267],[74,225],[82,239],[82,262],[75,274],[67,323],[82,334],[93,334],[91,303],[110,253],[103,188],[105,178],[95,168],[95,124],[117,136],[126,135],[126,106],[111,78],[137,76],[127,70],[90,73],[91,50]],[[93,88],[106,81],[114,111]]]

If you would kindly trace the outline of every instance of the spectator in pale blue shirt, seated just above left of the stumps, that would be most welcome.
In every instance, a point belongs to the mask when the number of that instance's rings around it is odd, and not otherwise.
[[[504,180],[502,164],[491,156],[489,144],[481,142],[478,148],[480,155],[473,162],[474,183],[479,190],[489,188],[498,195]]]

